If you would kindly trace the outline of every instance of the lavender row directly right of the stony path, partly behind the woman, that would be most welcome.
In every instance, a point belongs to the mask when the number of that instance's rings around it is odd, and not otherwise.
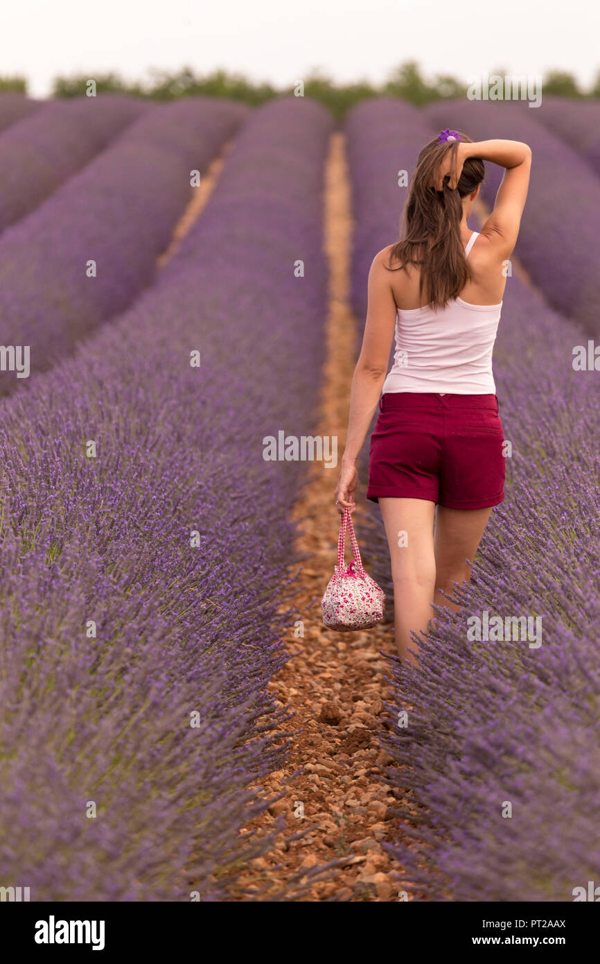
[[[361,240],[365,205],[366,231],[383,247],[404,203],[393,174],[410,170],[431,133],[426,120],[389,101],[362,105],[349,119],[361,314],[375,253]],[[533,139],[532,147],[536,160]],[[407,726],[382,740],[395,758],[387,779],[401,819],[393,852],[412,897],[568,901],[599,878],[600,391],[594,372],[571,364],[572,348],[585,341],[509,278],[495,362],[512,443],[507,498],[494,510],[461,613],[438,610],[421,670],[393,664],[388,710],[398,719],[405,708]],[[387,549],[375,511],[378,528],[366,538],[381,577]],[[503,629],[507,619],[531,620],[530,637],[496,631],[487,641],[494,616]]]

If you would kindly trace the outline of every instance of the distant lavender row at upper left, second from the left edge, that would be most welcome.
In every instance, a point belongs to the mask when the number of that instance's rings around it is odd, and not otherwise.
[[[48,104],[0,136],[0,231],[33,211],[144,111],[118,94]]]

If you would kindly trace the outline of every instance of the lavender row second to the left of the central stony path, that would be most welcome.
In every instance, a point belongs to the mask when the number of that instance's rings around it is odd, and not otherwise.
[[[117,115],[131,110],[118,98],[112,106]],[[27,124],[41,123],[49,110]],[[145,110],[111,147],[4,231],[2,340],[29,346],[30,370],[64,359],[152,281],[157,256],[192,196],[192,172],[206,171],[247,116],[247,107],[211,97]],[[21,188],[28,190],[26,183]],[[20,378],[16,365],[3,371],[0,393],[13,391]]]

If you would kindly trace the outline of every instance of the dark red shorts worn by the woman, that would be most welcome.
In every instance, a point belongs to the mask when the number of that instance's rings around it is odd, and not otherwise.
[[[371,436],[367,498],[426,498],[451,509],[504,499],[496,395],[386,392]]]

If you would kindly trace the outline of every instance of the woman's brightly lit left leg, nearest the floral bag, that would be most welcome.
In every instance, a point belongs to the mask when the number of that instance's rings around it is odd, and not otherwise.
[[[394,582],[394,624],[401,659],[417,665],[410,630],[427,629],[435,587],[433,512],[423,498],[379,498]]]

